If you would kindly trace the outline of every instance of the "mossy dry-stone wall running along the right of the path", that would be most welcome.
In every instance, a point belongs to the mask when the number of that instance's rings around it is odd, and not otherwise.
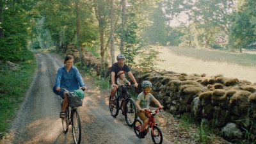
[[[173,115],[218,128],[228,141],[255,140],[256,86],[250,81],[167,71],[137,74],[136,79],[151,81],[151,93]]]

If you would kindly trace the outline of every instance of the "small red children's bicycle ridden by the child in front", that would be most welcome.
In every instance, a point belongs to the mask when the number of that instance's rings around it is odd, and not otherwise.
[[[151,138],[152,138],[153,142],[155,144],[163,143],[163,132],[161,131],[161,129],[159,127],[157,127],[157,124],[156,124],[155,118],[154,118],[154,116],[156,116],[158,111],[161,111],[161,108],[157,108],[156,110],[152,110],[152,111],[145,109],[145,111],[148,111],[148,113],[151,116],[151,118],[148,118],[148,125],[147,125],[145,131],[148,133],[149,128],[151,128]],[[139,120],[138,118],[134,121],[133,129],[134,129],[136,136],[139,136],[142,124],[143,124],[143,122],[141,120]]]

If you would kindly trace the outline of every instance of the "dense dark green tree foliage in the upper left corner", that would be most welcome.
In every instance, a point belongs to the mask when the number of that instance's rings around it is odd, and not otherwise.
[[[22,54],[27,47],[28,22],[25,9],[29,9],[29,6],[10,1],[3,4],[0,13],[0,60],[20,61],[24,59]]]

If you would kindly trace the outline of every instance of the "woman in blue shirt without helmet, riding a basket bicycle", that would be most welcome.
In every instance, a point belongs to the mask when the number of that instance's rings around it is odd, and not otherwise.
[[[56,81],[54,87],[52,88],[53,92],[56,95],[60,95],[63,99],[63,104],[60,112],[60,117],[65,117],[65,109],[68,106],[67,101],[67,91],[74,92],[75,90],[79,89],[79,86],[82,87],[84,90],[87,90],[83,79],[77,70],[77,67],[73,66],[74,59],[73,56],[67,55],[62,67],[58,69],[58,73],[56,75]],[[62,88],[62,89],[61,89]],[[65,89],[64,89],[65,88]]]

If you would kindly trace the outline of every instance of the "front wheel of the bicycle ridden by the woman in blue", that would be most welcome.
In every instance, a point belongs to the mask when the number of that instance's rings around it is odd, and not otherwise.
[[[81,143],[81,120],[76,108],[72,109],[72,134],[76,144]]]

